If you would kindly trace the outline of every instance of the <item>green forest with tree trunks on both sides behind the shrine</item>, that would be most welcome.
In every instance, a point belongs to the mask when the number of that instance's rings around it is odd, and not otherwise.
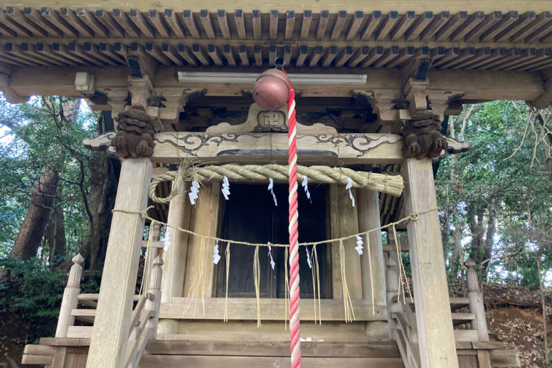
[[[0,343],[14,318],[30,342],[54,333],[78,252],[84,292],[97,292],[119,162],[82,140],[112,129],[108,114],[78,99],[10,105],[0,95]],[[435,176],[447,276],[451,284],[465,280],[471,258],[482,282],[535,290],[542,367],[549,361],[542,331],[551,325],[552,110],[522,101],[465,105],[443,130],[471,144],[446,156]]]

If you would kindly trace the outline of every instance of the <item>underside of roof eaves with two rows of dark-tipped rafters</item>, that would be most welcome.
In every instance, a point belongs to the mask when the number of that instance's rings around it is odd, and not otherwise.
[[[0,61],[18,66],[126,65],[128,52],[143,52],[176,66],[266,67],[280,56],[299,68],[401,68],[431,59],[437,70],[537,71],[552,67],[551,48],[552,12],[525,9],[0,12]]]

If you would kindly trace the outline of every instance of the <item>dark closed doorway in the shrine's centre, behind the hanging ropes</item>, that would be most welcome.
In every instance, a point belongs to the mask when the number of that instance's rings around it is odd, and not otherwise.
[[[222,200],[222,216],[219,222],[221,238],[249,243],[288,243],[288,186],[275,184],[274,194],[278,205],[266,185],[238,184],[230,185],[230,199]],[[299,187],[299,242],[322,241],[327,238],[326,199],[327,185],[311,185],[312,202],[306,198],[304,190]],[[221,260],[215,272],[215,296],[226,294],[226,244],[220,245]],[[309,253],[312,246],[308,246]],[[275,269],[270,267],[268,247],[259,248],[261,298],[284,298],[285,268],[284,252],[287,248],[272,247]],[[230,245],[230,269],[228,272],[228,296],[233,298],[255,297],[253,279],[253,258],[255,247],[247,245]],[[319,265],[320,297],[329,298],[330,267],[329,252],[326,244],[317,245]],[[305,247],[299,248],[299,275],[302,298],[313,298],[313,277],[308,267]],[[318,291],[317,291],[318,293]]]

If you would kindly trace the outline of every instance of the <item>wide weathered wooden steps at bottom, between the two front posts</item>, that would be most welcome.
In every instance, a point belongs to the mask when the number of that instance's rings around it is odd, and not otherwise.
[[[397,344],[301,343],[303,367],[404,368]],[[153,340],[139,367],[288,367],[289,343],[228,343],[190,340]]]

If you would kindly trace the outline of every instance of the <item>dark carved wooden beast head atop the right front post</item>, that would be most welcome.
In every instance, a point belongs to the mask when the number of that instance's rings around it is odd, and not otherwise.
[[[439,115],[431,110],[414,112],[402,128],[404,156],[417,159],[439,156],[449,146],[440,130]]]

